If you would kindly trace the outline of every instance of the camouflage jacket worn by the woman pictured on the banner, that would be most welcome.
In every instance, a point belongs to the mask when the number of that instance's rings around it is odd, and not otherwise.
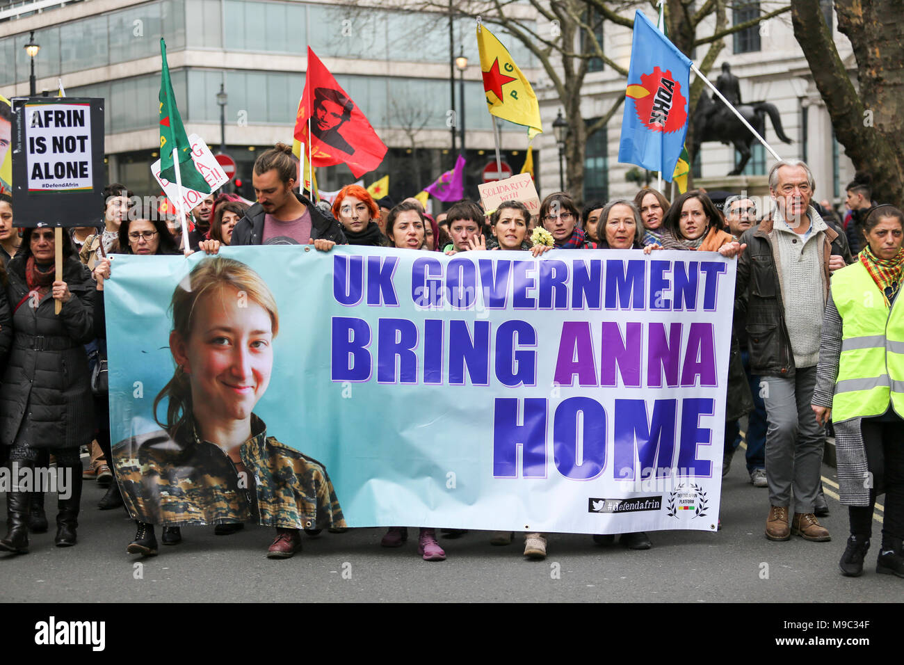
[[[264,527],[346,526],[323,464],[268,437],[267,425],[253,414],[251,434],[240,448],[247,480],[196,429],[191,441],[158,430],[118,442],[113,461],[129,515],[166,527],[252,518]]]

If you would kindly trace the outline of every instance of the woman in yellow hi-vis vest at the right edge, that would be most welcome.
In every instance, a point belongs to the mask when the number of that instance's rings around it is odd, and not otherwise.
[[[835,271],[826,303],[813,410],[832,419],[841,502],[851,537],[842,575],[863,572],[876,496],[885,492],[876,572],[904,577],[904,214],[866,214],[858,261]]]

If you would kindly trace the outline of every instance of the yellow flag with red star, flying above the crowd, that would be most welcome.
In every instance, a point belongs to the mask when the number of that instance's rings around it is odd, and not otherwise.
[[[543,130],[540,103],[531,84],[503,44],[485,25],[477,24],[477,49],[480,51],[480,70],[484,74],[486,105],[496,118],[524,125],[528,138]]]

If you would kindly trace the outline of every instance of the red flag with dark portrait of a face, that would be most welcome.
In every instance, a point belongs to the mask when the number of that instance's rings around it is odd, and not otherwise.
[[[311,119],[310,143],[308,118]],[[386,144],[310,47],[295,138],[306,147],[310,145],[312,166],[347,164],[356,178],[380,166],[386,155]]]

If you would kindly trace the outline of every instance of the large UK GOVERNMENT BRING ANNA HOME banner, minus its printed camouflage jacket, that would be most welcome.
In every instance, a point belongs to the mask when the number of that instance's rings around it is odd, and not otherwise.
[[[199,281],[224,260],[253,271],[247,289]],[[155,397],[187,380],[195,418],[245,400],[322,464],[351,527],[715,530],[734,274],[715,252],[117,256],[114,458],[153,439]]]

